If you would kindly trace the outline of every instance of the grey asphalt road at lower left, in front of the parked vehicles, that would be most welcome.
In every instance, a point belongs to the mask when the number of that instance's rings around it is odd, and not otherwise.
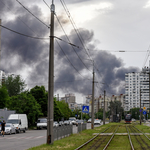
[[[97,127],[99,125],[95,125]],[[91,123],[87,124],[87,129]],[[73,133],[77,133],[77,127],[73,126]],[[27,130],[26,133],[0,136],[0,150],[26,150],[46,143],[47,130]]]

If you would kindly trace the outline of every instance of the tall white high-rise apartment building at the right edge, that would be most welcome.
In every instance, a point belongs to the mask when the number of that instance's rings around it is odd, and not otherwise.
[[[125,111],[140,107],[140,91],[141,107],[149,108],[149,72],[145,67],[141,72],[125,74]]]

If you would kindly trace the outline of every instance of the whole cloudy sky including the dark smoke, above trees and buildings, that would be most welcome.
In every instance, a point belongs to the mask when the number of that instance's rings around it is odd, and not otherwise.
[[[36,85],[47,89],[50,10],[43,0],[19,2],[0,1],[2,25],[46,39],[31,39],[1,28],[0,69],[20,74],[29,89]],[[52,1],[45,2],[50,6]],[[82,103],[92,94],[90,60],[94,60],[95,96],[103,95],[104,90],[108,96],[124,94],[125,73],[149,66],[150,0],[54,0],[54,4],[54,34],[65,41],[55,39],[54,95],[74,93],[77,103]]]

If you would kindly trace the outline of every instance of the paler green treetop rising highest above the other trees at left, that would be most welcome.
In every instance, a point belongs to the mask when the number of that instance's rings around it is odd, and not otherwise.
[[[20,75],[10,75],[5,79],[4,86],[8,90],[9,96],[15,96],[24,91],[26,84]]]

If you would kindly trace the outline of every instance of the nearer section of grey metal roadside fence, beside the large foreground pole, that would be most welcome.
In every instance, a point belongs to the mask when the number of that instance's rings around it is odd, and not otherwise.
[[[54,127],[54,140],[59,140],[61,138],[64,138],[66,136],[69,136],[73,133],[73,126],[60,126],[60,127]]]

